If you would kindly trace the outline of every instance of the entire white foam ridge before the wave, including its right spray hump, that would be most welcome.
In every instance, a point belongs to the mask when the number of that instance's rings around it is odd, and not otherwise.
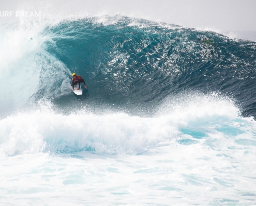
[[[239,114],[231,100],[199,93],[176,96],[175,102],[169,98],[158,116],[147,118],[125,113],[94,115],[85,111],[64,115],[54,112],[51,105],[42,105],[34,112],[0,121],[3,153],[12,156],[89,150],[137,154],[159,144],[175,142],[183,135],[180,128],[187,125],[201,124],[208,130],[209,123],[216,118],[235,119]]]

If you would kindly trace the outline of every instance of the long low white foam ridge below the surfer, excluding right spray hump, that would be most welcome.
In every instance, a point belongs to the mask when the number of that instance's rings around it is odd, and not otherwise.
[[[124,113],[96,116],[36,111],[0,121],[1,151],[20,153],[79,152],[140,153],[177,132],[164,119],[141,118]]]

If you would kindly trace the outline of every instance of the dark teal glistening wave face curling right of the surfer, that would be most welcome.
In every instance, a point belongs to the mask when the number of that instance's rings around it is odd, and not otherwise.
[[[182,91],[218,91],[256,115],[255,42],[126,17],[63,22],[43,33],[51,36],[45,50],[85,78],[90,100],[143,108]]]

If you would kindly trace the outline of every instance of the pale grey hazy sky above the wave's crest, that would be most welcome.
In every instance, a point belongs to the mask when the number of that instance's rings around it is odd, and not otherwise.
[[[255,8],[256,0],[1,0],[0,15],[3,11],[40,11],[46,18],[78,13],[121,14],[222,33],[256,35]],[[19,17],[0,16],[0,24],[12,21],[19,21]]]

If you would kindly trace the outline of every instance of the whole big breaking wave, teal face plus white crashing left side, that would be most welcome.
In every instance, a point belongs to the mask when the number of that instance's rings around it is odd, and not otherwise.
[[[11,100],[1,92],[5,111],[42,97],[61,108],[74,104],[75,72],[88,85],[80,98],[88,105],[148,111],[167,96],[196,90],[221,92],[237,100],[244,116],[256,115],[255,42],[125,16],[13,27],[2,28],[7,60],[0,80],[6,85],[11,76],[19,86],[10,89]]]

